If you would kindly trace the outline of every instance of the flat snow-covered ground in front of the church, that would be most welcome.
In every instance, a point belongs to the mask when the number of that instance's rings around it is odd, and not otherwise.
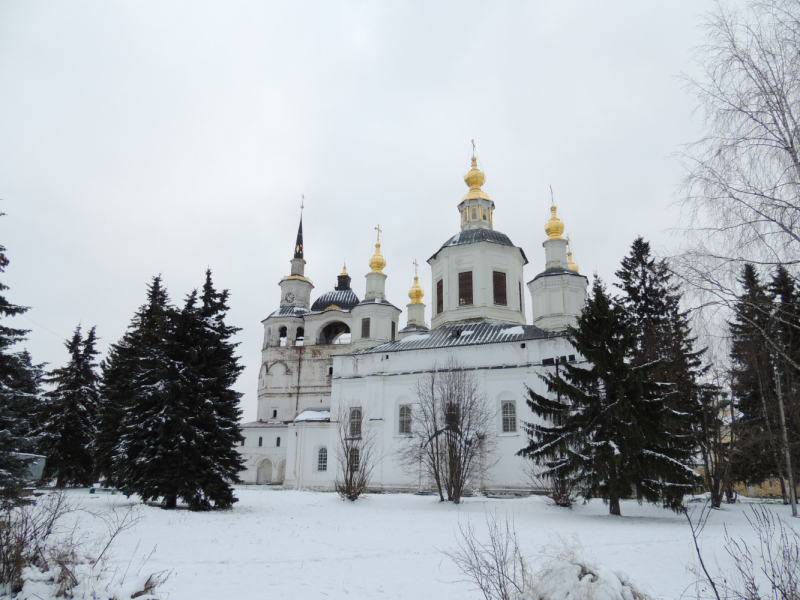
[[[133,503],[85,490],[70,494],[93,510]],[[114,561],[124,569],[132,555],[156,548],[145,571],[174,571],[161,592],[169,600],[477,599],[481,594],[459,581],[441,550],[455,546],[459,523],[471,520],[484,531],[485,511],[492,511],[513,518],[530,556],[557,536],[577,536],[589,558],[625,571],[653,596],[678,598],[694,579],[685,518],[632,501],[622,503],[623,517],[611,517],[599,501],[563,509],[538,497],[467,498],[453,506],[409,494],[374,494],[355,503],[332,493],[266,487],[241,487],[237,495],[235,508],[224,512],[142,506],[143,520],[120,536]],[[770,510],[793,521],[787,507]],[[725,558],[724,526],[752,538],[748,512],[741,503],[715,511],[703,534],[709,556]]]

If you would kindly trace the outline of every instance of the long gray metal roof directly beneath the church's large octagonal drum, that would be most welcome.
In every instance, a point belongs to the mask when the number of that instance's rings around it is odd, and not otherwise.
[[[422,348],[449,348],[453,346],[479,346],[507,342],[524,342],[562,337],[563,332],[548,332],[533,325],[510,325],[508,323],[466,323],[447,325],[429,333],[410,335],[398,342],[388,342],[353,354],[378,354],[381,352],[403,352]]]

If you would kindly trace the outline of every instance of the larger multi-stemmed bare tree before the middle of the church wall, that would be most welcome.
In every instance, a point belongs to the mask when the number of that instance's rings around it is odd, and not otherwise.
[[[472,373],[454,359],[434,365],[415,391],[411,435],[400,461],[409,469],[421,466],[439,499],[458,504],[497,462],[495,413]]]

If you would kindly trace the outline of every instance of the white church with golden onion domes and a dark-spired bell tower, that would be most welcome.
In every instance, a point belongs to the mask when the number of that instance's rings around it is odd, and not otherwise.
[[[544,393],[538,375],[559,361],[576,360],[565,328],[580,314],[588,280],[572,261],[564,223],[552,206],[544,228],[544,269],[525,284],[528,259],[494,228],[495,205],[482,190],[485,176],[475,157],[464,181],[469,191],[458,203],[460,231],[428,259],[430,326],[416,276],[401,327],[402,310],[384,293],[380,232],[363,299],[345,270],[333,290],[312,302],[301,220],[291,273],[279,284],[280,307],[263,321],[258,420],[242,425],[239,448],[247,465],[240,475],[244,482],[333,489],[338,437],[331,415],[347,406],[363,410],[365,426],[377,431],[383,458],[370,487],[425,488],[394,451],[410,432],[417,381],[452,358],[473,373],[495,409],[498,460],[473,487],[530,487],[525,461],[516,456],[528,442],[521,423],[533,420],[525,387]]]

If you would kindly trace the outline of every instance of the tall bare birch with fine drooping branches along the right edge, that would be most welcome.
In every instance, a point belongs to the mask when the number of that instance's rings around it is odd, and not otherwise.
[[[800,1],[750,0],[741,9],[719,2],[704,27],[700,74],[685,80],[706,131],[681,154],[687,244],[672,264],[706,320],[723,329],[740,301],[745,263],[783,266],[794,279],[799,272]],[[764,326],[775,323],[769,317],[749,325],[770,354],[800,370],[797,354]],[[783,414],[783,398],[778,402]]]

